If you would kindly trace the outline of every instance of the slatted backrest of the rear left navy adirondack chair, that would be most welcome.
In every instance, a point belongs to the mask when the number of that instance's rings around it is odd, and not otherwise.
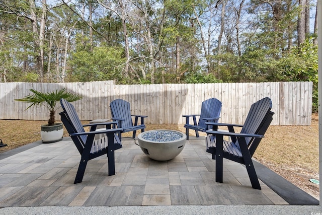
[[[130,103],[123,99],[116,99],[110,103],[112,117],[124,119],[122,120],[122,127],[132,127],[132,117],[130,110]]]

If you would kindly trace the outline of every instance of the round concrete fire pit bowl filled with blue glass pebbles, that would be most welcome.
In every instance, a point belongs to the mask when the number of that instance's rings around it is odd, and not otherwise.
[[[181,153],[186,134],[176,130],[149,130],[137,136],[141,150],[156,161],[168,161]]]

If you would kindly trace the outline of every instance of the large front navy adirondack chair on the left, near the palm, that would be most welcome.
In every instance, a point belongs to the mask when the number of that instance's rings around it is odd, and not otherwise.
[[[107,155],[109,176],[115,174],[114,151],[122,148],[121,140],[117,133],[121,128],[111,129],[111,125],[116,122],[93,123],[82,125],[72,104],[64,99],[60,99],[60,104],[63,109],[60,112],[61,121],[74,142],[78,152],[81,154],[74,184],[80,183],[83,180],[85,169],[89,160]],[[106,130],[96,131],[97,125],[106,125]],[[85,126],[91,126],[90,131],[84,130]],[[99,139],[95,139],[95,134],[101,135]]]

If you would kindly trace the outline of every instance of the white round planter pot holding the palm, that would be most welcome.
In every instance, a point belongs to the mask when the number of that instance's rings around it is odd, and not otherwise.
[[[51,142],[58,142],[62,140],[64,129],[62,123],[55,123],[54,125],[42,125],[40,136],[44,144],[50,144]]]

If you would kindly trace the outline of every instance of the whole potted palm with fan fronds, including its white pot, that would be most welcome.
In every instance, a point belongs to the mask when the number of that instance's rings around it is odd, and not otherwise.
[[[60,99],[66,99],[68,102],[77,101],[83,97],[77,93],[70,93],[65,88],[53,92],[42,93],[34,89],[30,89],[31,95],[25,96],[22,99],[15,99],[15,101],[31,103],[29,107],[44,106],[49,110],[50,118],[48,124],[41,126],[41,140],[43,143],[57,142],[62,139],[63,126],[62,123],[55,123],[55,112],[59,108],[56,107]]]

